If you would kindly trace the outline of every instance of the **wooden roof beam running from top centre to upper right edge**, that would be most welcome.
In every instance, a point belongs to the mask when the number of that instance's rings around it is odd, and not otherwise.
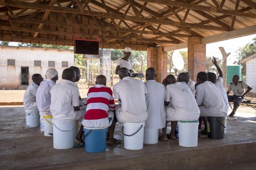
[[[245,13],[245,12],[239,12],[239,11],[233,11],[233,10],[209,7],[209,6],[195,5],[195,4],[181,2],[181,1],[174,1],[174,0],[140,0],[140,1],[146,1],[148,3],[157,3],[157,4],[166,5],[166,6],[177,6],[177,7],[187,8],[187,9],[208,11],[208,12],[214,12],[219,14],[256,18],[256,14],[252,14],[252,13]]]

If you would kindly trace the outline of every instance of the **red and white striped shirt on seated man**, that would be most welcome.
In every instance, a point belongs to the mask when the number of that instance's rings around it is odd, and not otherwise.
[[[109,106],[111,111],[116,108],[111,88],[105,85],[95,85],[89,88],[84,119],[95,120],[108,117]]]

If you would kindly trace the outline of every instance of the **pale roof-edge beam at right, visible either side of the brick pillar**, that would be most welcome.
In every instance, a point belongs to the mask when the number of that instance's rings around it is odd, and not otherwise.
[[[233,38],[237,38],[237,37],[243,37],[243,36],[251,35],[251,34],[256,34],[256,25],[241,28],[241,29],[237,29],[237,30],[234,30],[234,31],[221,33],[221,34],[212,35],[212,36],[209,36],[209,37],[204,37],[204,38],[202,38],[202,44],[208,44],[208,43],[212,43],[212,42],[229,40],[229,39],[233,39]],[[187,42],[184,42],[184,43],[180,43],[180,44],[177,44],[177,45],[164,47],[164,51],[165,52],[173,51],[173,50],[177,50],[177,49],[181,49],[181,48],[187,48],[187,47],[188,47]]]

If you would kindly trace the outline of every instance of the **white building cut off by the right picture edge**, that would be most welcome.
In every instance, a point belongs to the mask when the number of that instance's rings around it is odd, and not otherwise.
[[[246,62],[246,84],[253,89],[251,92],[256,92],[256,54],[243,59],[240,63]]]

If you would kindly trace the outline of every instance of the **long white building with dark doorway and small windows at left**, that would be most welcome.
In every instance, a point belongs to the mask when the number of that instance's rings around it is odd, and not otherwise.
[[[45,79],[48,68],[62,71],[74,63],[73,50],[0,46],[0,89],[26,88],[33,74]]]

